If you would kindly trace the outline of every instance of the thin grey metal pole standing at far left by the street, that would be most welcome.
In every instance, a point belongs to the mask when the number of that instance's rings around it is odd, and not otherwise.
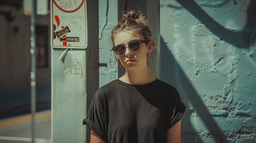
[[[31,138],[35,143],[35,112],[36,112],[36,46],[35,46],[35,1],[31,0],[31,16],[30,16],[30,55],[31,55]]]

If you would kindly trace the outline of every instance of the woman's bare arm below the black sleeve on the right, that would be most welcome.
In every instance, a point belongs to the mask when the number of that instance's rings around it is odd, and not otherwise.
[[[181,120],[175,123],[166,133],[166,143],[180,143]]]

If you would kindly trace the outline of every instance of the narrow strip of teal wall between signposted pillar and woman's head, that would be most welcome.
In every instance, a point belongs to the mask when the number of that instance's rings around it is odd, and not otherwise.
[[[112,52],[108,37],[112,26],[117,24],[117,0],[99,0],[99,62],[108,67],[99,68],[99,86],[103,86],[118,77],[118,63]]]

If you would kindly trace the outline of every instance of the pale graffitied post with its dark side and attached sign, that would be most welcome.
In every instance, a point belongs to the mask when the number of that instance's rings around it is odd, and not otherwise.
[[[85,143],[99,88],[98,1],[51,2],[52,143]]]

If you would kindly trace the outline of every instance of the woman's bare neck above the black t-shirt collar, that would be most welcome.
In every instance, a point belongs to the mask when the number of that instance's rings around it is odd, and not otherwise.
[[[127,70],[124,76],[119,78],[127,84],[143,85],[155,80],[155,78],[148,72],[148,70]]]

